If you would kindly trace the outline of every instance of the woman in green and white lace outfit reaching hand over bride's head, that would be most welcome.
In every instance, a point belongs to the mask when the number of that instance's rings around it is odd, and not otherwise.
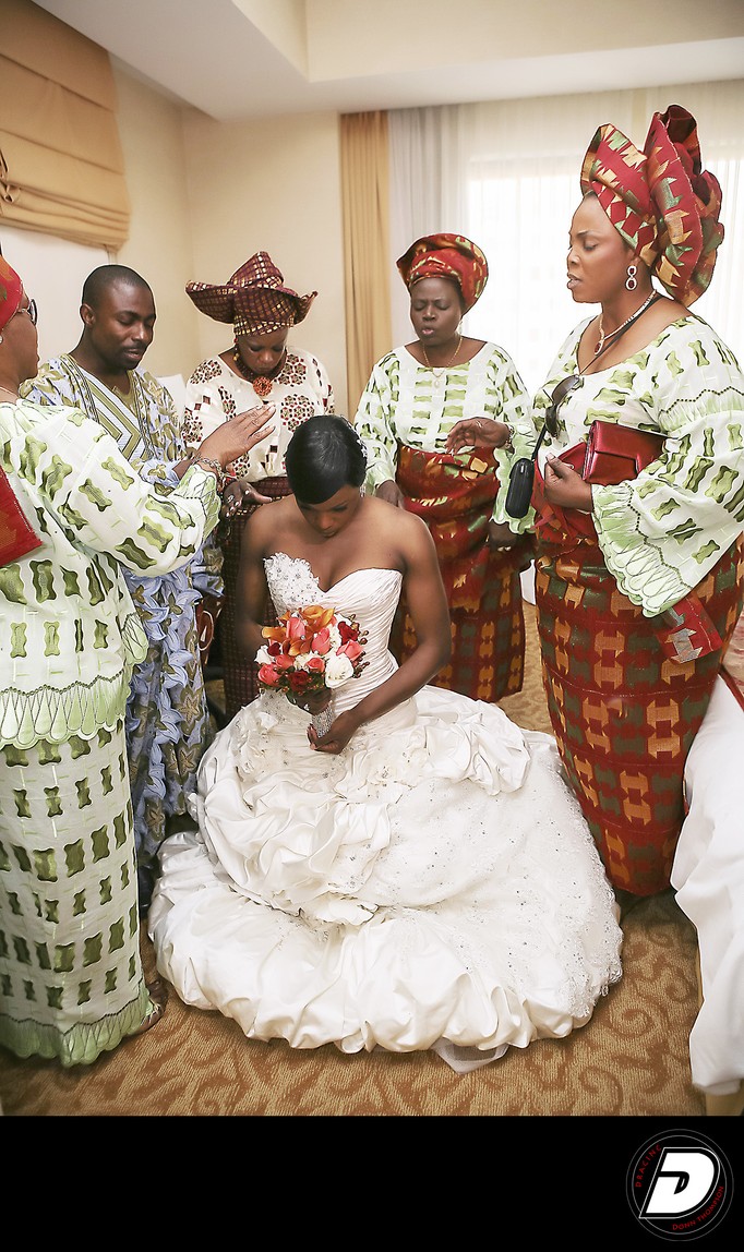
[[[74,1065],[154,1025],[164,1002],[139,953],[124,714],[147,640],[121,570],[193,556],[224,466],[271,432],[271,411],[204,439],[165,497],[79,409],[19,399],[35,322],[0,257],[0,468],[40,540],[0,566],[0,1044]]]

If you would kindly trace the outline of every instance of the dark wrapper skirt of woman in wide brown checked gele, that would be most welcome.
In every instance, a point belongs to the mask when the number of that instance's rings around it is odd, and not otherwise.
[[[261,482],[254,482],[253,487],[262,496],[271,496],[272,500],[289,495],[289,483],[286,477],[263,478]],[[219,523],[224,605],[217,622],[217,630],[224,682],[224,711],[228,721],[240,711],[243,705],[251,704],[259,694],[258,670],[253,664],[253,657],[247,656],[235,642],[235,586],[240,568],[240,541],[245,522],[251,513],[259,507],[259,505],[249,505],[245,508],[239,508],[229,521]],[[263,625],[276,626],[276,623],[277,612],[271,597],[267,596]]]

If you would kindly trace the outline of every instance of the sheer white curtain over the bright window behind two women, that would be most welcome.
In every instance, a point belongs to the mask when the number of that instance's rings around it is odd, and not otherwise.
[[[651,114],[669,104],[696,118],[703,165],[723,189],[725,239],[695,312],[744,363],[744,80],[392,110],[391,265],[421,234],[475,239],[490,277],[465,329],[500,343],[536,391],[564,337],[594,312],[574,304],[565,280],[584,153],[605,121],[643,146]],[[396,344],[412,338],[400,280],[392,326]]]

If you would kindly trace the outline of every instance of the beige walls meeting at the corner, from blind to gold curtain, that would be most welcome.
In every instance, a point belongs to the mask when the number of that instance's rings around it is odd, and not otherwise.
[[[198,313],[190,279],[223,283],[268,252],[289,287],[318,292],[291,342],[314,352],[346,396],[338,116],[321,113],[218,123],[153,91],[120,68],[119,131],[132,230],[116,260],[153,288],[158,324],[145,366],[183,374],[232,343]]]

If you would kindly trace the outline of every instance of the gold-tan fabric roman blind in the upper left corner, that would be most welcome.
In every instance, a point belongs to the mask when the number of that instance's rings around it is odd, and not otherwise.
[[[108,53],[30,0],[0,0],[0,224],[118,252],[130,205]]]

